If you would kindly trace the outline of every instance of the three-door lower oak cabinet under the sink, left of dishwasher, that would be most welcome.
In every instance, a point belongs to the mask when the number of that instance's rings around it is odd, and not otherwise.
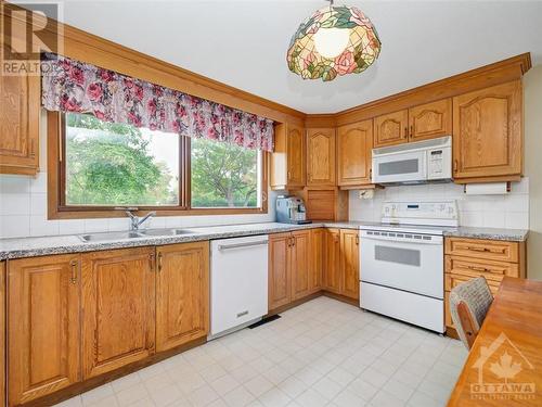
[[[208,242],[16,259],[8,272],[9,406],[208,332]]]

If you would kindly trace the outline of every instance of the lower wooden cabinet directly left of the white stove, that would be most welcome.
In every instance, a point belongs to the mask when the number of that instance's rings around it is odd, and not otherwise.
[[[324,288],[353,300],[360,297],[359,231],[327,229]]]

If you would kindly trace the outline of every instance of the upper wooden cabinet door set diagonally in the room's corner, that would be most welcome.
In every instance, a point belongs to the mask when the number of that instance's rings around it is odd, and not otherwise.
[[[335,129],[307,130],[307,185],[335,186]]]

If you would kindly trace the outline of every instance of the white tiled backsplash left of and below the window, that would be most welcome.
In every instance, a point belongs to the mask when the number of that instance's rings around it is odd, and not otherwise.
[[[0,175],[0,238],[74,234],[127,230],[127,217],[111,219],[47,219],[47,123],[42,115],[40,129],[40,173],[28,176]],[[147,227],[194,227],[228,224],[274,221],[276,193],[270,191],[266,215],[165,216],[145,224]],[[122,216],[121,214],[120,216]]]

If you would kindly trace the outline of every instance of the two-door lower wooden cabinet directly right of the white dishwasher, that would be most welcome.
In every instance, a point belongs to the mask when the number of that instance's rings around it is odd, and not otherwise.
[[[321,289],[323,229],[269,237],[269,309],[273,310]],[[321,254],[322,251],[320,250]]]

